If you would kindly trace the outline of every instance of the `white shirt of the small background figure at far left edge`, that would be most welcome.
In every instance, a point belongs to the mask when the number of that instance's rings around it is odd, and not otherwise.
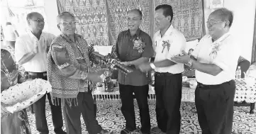
[[[16,35],[15,35],[16,28],[13,25],[7,25],[4,28],[4,40],[6,41],[15,41]]]

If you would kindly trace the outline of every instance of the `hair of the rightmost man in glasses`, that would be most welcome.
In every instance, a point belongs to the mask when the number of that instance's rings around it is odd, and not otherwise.
[[[226,8],[216,9],[216,11],[213,11],[213,13],[218,14],[219,18],[221,18],[221,21],[228,21],[228,27],[230,28],[233,23],[233,11],[230,11]]]

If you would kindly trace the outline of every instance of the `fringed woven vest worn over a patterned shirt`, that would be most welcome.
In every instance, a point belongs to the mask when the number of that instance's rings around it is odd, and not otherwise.
[[[90,64],[89,56],[88,56],[88,46],[82,36],[75,34],[75,38],[77,38],[77,42],[79,42],[78,48],[81,49],[82,55],[84,57],[84,61],[87,65]],[[65,48],[69,55],[70,61],[74,67],[79,65],[77,61],[78,57],[74,55],[74,50],[71,45],[65,39],[65,35],[59,35],[55,40],[52,41],[52,44],[57,44],[58,46],[51,45],[49,53],[48,53],[48,81],[52,85],[51,96],[52,99],[60,98],[60,99],[76,99],[77,94],[79,93],[79,79],[71,79],[69,77],[64,77],[60,69],[57,65],[54,64],[52,60],[51,50],[52,47]],[[89,66],[88,66],[89,67]],[[71,104],[71,101],[69,101]]]

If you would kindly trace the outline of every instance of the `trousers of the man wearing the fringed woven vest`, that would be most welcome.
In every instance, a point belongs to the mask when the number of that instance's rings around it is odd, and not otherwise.
[[[65,124],[67,134],[81,134],[81,113],[84,118],[84,123],[87,125],[87,130],[89,134],[100,133],[102,128],[96,121],[96,116],[94,114],[94,100],[92,99],[91,92],[79,92],[77,95],[78,106],[74,106],[74,100],[72,101],[72,106],[65,100],[65,105],[63,108]]]

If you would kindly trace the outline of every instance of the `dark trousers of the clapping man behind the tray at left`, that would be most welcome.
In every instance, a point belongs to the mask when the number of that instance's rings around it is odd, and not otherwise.
[[[38,73],[38,74],[28,74],[28,79],[45,79],[47,80],[47,76],[43,75],[43,73]],[[40,134],[48,134],[48,124],[46,121],[46,116],[45,116],[45,99],[46,96],[48,97],[49,104],[50,104],[50,109],[52,112],[52,123],[54,126],[54,131],[57,134],[63,133],[62,127],[63,127],[63,119],[62,119],[62,110],[61,106],[55,106],[52,104],[50,94],[47,93],[45,94],[41,99],[35,102],[33,104],[33,111],[35,112],[35,126],[36,129]]]

